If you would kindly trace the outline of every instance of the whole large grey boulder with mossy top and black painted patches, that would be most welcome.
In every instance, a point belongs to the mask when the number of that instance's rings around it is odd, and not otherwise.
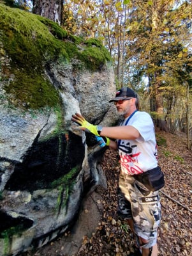
[[[118,116],[108,103],[115,93],[109,58],[92,56],[92,68],[80,55],[98,48],[106,54],[101,45],[81,42],[75,45],[79,55],[69,59],[64,38],[52,35],[48,20],[3,4],[0,14],[0,252],[6,256],[43,246],[68,230],[87,192],[107,186],[100,166],[105,148],[72,124],[71,115],[82,113],[97,125],[114,125]],[[55,47],[47,46],[47,36]]]

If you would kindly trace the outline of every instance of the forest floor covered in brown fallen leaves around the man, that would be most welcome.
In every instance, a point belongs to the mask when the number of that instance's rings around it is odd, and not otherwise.
[[[192,151],[187,149],[183,134],[156,132],[159,165],[165,174],[165,187],[161,189],[162,220],[159,227],[159,256],[192,256],[191,195]],[[103,157],[103,170],[108,188],[103,192],[104,212],[92,237],[82,237],[80,250],[74,256],[126,256],[133,252],[133,238],[126,222],[117,216],[117,183],[120,166],[117,152],[108,149]],[[62,239],[40,248],[34,256],[64,256]],[[55,253],[53,253],[55,252]],[[31,253],[27,253],[31,256]]]

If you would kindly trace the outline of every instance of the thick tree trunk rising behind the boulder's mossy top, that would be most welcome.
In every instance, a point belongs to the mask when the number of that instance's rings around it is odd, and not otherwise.
[[[33,13],[46,17],[61,25],[63,0],[33,0]]]

